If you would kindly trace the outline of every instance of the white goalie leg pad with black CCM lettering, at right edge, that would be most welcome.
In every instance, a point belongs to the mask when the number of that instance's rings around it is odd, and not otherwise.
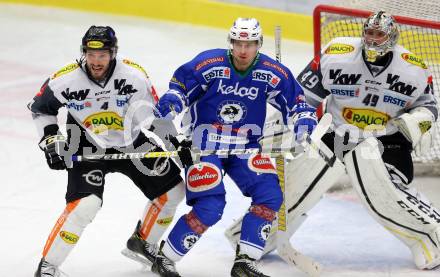
[[[377,139],[366,139],[344,161],[362,203],[411,249],[417,267],[439,265],[440,213],[422,194],[395,181],[382,160]]]

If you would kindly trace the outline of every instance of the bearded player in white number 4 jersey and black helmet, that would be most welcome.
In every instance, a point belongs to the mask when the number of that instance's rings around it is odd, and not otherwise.
[[[144,69],[120,58],[117,50],[111,27],[91,26],[82,39],[81,59],[47,79],[28,105],[49,167],[68,172],[67,206],[47,239],[36,277],[60,275],[59,266],[101,208],[107,173],[128,176],[150,199],[123,251],[145,264],[155,259],[156,244],[183,199],[180,169],[171,160],[70,162],[72,154],[161,151],[141,131],[158,128],[154,124],[160,121],[153,121],[155,90]],[[63,106],[68,111],[67,138],[57,123]]]

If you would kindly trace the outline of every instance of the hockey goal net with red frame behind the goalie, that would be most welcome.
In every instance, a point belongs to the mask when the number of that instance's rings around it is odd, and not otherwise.
[[[437,1],[352,0],[337,2],[340,6],[319,5],[313,14],[315,54],[335,37],[361,36],[365,19],[374,11],[385,10],[399,23],[398,44],[421,57],[431,70],[434,92],[440,103],[440,2]],[[439,122],[436,127],[432,150],[421,157],[413,156],[417,175],[440,175]]]

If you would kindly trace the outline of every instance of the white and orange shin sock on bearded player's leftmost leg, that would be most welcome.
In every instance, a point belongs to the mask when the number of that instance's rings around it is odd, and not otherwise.
[[[69,202],[46,241],[43,258],[53,265],[61,265],[101,204],[102,200],[94,194]]]

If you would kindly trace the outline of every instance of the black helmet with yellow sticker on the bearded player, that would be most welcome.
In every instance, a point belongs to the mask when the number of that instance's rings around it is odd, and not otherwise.
[[[112,58],[118,51],[118,39],[110,26],[91,26],[82,38],[81,53],[87,50],[110,50]]]

